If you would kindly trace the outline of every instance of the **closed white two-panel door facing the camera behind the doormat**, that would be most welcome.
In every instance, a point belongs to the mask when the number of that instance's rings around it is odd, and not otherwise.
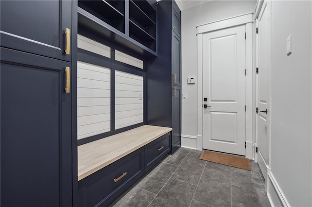
[[[202,35],[204,149],[245,155],[245,30]]]

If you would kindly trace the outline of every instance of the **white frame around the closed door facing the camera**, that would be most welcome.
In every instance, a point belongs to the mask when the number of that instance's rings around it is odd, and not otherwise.
[[[215,30],[225,29],[238,25],[246,25],[246,155],[254,158],[253,145],[253,14],[248,13],[236,17],[226,18],[215,22],[197,26],[197,149],[203,147],[203,64],[202,64],[202,35]]]

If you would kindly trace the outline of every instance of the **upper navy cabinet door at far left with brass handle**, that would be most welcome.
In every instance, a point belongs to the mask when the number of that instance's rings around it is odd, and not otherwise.
[[[1,0],[0,45],[71,61],[71,8],[71,0]]]

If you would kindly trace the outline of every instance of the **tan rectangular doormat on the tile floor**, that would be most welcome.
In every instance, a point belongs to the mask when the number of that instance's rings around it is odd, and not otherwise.
[[[222,153],[215,153],[211,151],[204,151],[200,155],[199,159],[250,171],[250,161],[245,157],[225,155]]]

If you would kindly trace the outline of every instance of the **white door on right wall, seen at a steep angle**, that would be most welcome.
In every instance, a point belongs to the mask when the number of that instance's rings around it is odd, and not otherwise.
[[[269,115],[270,115],[270,6],[267,1],[262,5],[258,17],[257,35],[257,108],[256,136],[258,146],[258,163],[264,178],[269,165]],[[264,112],[268,111],[268,112]]]

